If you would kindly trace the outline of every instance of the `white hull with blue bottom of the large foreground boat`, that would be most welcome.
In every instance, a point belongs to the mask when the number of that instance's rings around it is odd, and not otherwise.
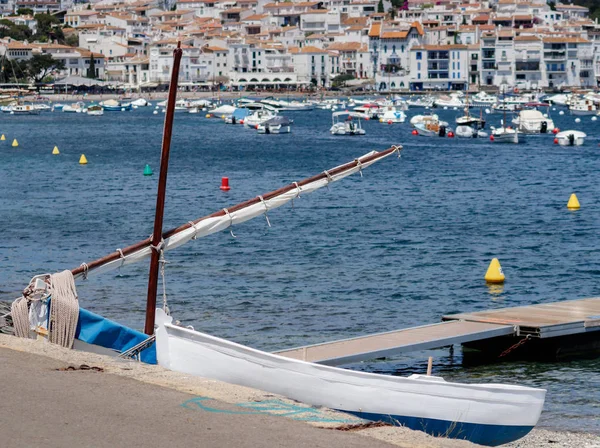
[[[160,309],[156,323],[157,360],[167,369],[484,445],[508,443],[531,431],[546,395],[523,386],[404,378],[285,358],[175,326]]]

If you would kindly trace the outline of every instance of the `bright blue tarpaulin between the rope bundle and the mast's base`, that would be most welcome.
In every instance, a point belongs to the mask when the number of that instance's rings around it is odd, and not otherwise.
[[[79,308],[79,321],[75,338],[88,344],[116,350],[120,353],[148,339],[148,336],[124,325],[113,322],[98,314]],[[156,364],[154,343],[140,353],[140,358],[148,364]]]

